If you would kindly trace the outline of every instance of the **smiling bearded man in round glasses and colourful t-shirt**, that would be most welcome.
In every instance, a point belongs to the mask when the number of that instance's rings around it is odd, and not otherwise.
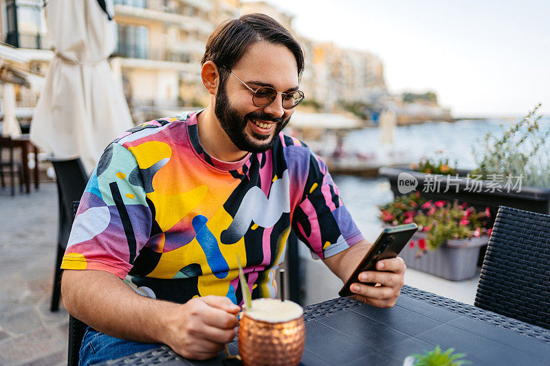
[[[249,14],[206,44],[201,111],[146,122],[104,151],[63,258],[63,303],[89,325],[81,365],[170,346],[217,356],[242,304],[274,297],[289,231],[346,281],[368,251],[327,165],[281,131],[305,98],[303,50],[274,19]],[[400,258],[360,274],[354,297],[393,306]],[[382,286],[368,286],[364,283]]]

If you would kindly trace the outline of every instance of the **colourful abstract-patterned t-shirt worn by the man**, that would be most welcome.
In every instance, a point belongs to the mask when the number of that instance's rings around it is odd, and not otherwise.
[[[80,201],[61,268],[113,273],[138,293],[241,304],[274,297],[291,227],[315,258],[363,239],[327,166],[281,133],[267,152],[226,163],[199,143],[197,113],[146,122],[105,149]]]

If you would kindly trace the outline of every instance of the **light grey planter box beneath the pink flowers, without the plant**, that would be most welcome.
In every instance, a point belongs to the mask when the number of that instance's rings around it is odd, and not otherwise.
[[[412,236],[415,242],[419,238],[426,238],[426,234],[417,232]],[[403,258],[408,268],[452,281],[462,281],[476,275],[479,251],[487,242],[489,242],[488,236],[448,240],[437,250],[426,251],[420,258],[415,258],[419,251],[418,245],[411,249],[407,244],[399,257]]]

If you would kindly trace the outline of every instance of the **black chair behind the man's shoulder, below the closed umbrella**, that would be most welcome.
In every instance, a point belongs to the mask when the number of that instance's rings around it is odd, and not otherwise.
[[[51,311],[59,309],[59,297],[61,295],[61,260],[67,249],[67,241],[72,226],[72,204],[74,201],[80,200],[86,184],[88,176],[84,170],[80,159],[72,160],[54,160],[50,159],[54,165],[56,172],[56,183],[59,205],[59,227],[57,234],[57,255],[56,266],[54,272],[54,289],[52,291]]]

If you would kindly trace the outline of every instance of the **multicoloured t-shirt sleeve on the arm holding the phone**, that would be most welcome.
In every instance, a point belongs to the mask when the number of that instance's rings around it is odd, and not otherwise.
[[[310,150],[308,165],[292,227],[313,258],[328,258],[360,242],[363,236],[344,206],[325,161]]]

